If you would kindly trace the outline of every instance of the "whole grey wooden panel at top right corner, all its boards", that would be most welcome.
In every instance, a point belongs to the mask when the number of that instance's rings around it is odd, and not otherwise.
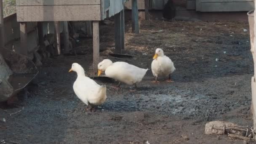
[[[196,0],[196,10],[201,12],[250,11],[253,0]]]

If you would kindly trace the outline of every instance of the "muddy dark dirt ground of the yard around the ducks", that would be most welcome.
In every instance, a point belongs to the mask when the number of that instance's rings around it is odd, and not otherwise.
[[[226,135],[205,135],[205,123],[224,120],[251,126],[253,60],[247,23],[141,21],[140,34],[125,23],[125,54],[115,58],[114,25],[101,25],[101,58],[149,68],[156,48],[163,48],[176,67],[174,83],[160,84],[147,72],[138,90],[109,88],[96,112],[85,112],[72,89],[73,62],[93,76],[92,39],[81,39],[85,55],[43,61],[34,83],[21,93],[21,106],[0,109],[0,141],[7,144],[242,144]],[[244,32],[243,29],[247,29]],[[97,81],[102,84],[102,82]],[[20,96],[20,97],[22,97]],[[10,115],[11,114],[11,115]],[[182,136],[187,136],[185,140]],[[1,143],[0,142],[0,143]]]

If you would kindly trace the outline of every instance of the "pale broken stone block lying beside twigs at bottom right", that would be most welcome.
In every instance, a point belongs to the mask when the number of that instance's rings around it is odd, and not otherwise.
[[[229,131],[225,130],[225,128],[234,128],[237,126],[238,125],[230,122],[212,121],[205,124],[205,134],[225,134],[225,132],[228,132],[240,135],[240,131],[235,131],[232,129],[229,129]]]

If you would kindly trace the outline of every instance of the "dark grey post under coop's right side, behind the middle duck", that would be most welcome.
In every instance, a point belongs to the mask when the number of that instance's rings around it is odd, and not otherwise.
[[[115,14],[115,54],[121,54],[124,49],[124,10]]]

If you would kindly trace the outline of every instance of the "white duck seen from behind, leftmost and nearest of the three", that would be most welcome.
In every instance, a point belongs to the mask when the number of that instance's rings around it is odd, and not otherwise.
[[[88,105],[90,110],[94,109],[93,106],[101,105],[106,101],[107,88],[105,85],[98,85],[94,80],[86,77],[80,64],[73,63],[69,72],[72,71],[77,72],[77,79],[73,85],[75,94],[83,103]]]

